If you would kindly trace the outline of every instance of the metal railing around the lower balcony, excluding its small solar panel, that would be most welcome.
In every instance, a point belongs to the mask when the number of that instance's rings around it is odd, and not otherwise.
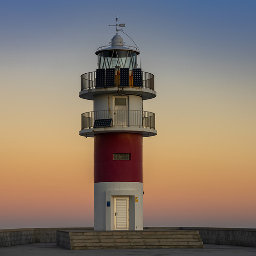
[[[137,126],[155,129],[155,114],[141,110],[100,110],[83,113],[82,129],[93,129],[95,120],[112,118],[111,127]]]

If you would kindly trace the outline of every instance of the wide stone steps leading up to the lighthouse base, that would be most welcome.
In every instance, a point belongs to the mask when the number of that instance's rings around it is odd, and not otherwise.
[[[57,230],[57,245],[71,250],[204,248],[196,230]]]

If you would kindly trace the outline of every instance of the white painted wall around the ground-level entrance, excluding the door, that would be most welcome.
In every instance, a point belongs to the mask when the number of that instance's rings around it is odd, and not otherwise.
[[[94,230],[114,230],[114,197],[129,196],[130,230],[143,230],[143,183],[94,183]],[[138,197],[138,202],[135,198]],[[110,202],[110,207],[106,202]]]

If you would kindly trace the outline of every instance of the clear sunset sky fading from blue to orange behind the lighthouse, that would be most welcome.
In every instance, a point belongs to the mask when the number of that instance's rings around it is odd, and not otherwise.
[[[252,0],[0,0],[0,229],[93,226],[93,139],[79,136],[93,102],[78,93],[116,15],[155,75],[144,226],[256,228],[255,12]]]

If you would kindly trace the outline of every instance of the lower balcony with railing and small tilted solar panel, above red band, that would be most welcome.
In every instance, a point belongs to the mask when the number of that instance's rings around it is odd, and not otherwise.
[[[143,137],[157,135],[155,114],[140,110],[101,110],[81,115],[82,127],[79,134],[94,137],[96,133],[140,133]]]

